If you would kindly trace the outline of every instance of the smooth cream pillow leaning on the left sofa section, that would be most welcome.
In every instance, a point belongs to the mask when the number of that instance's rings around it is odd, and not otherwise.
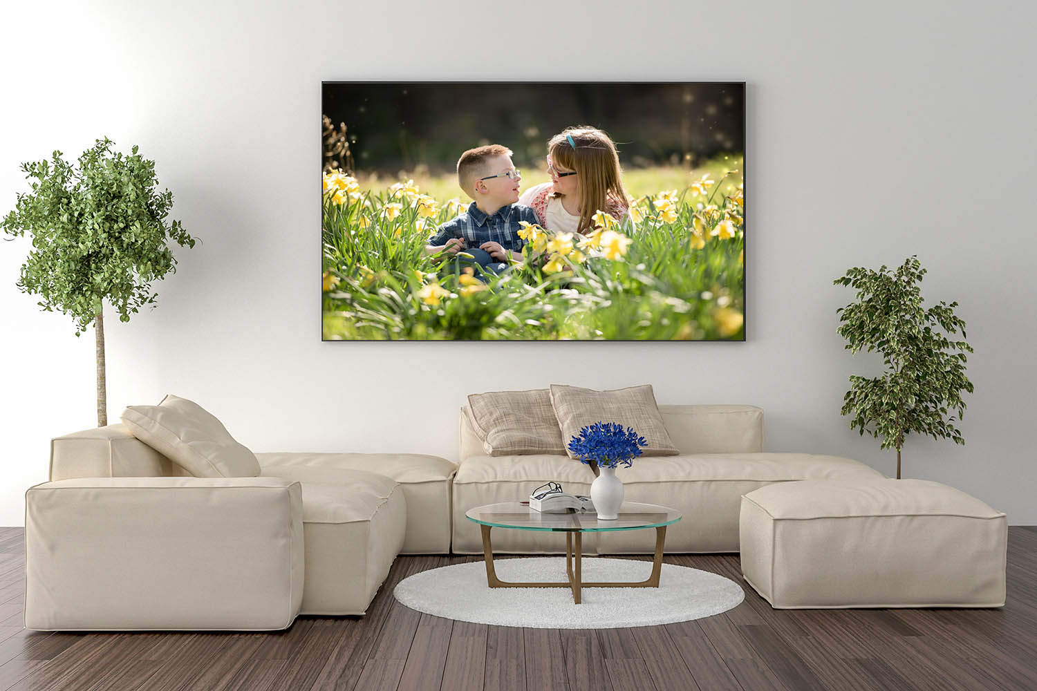
[[[195,478],[255,478],[259,461],[197,403],[167,396],[122,411],[130,432]]]

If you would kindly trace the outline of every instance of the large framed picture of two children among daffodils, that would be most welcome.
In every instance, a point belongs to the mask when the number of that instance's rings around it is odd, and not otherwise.
[[[739,82],[325,82],[326,341],[744,341]]]

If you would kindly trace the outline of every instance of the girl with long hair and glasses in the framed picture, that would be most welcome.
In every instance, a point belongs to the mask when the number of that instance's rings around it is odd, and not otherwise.
[[[627,213],[626,191],[616,145],[596,127],[566,127],[548,142],[551,182],[530,188],[518,199],[531,206],[540,225],[552,233],[586,235],[598,210],[622,222]]]

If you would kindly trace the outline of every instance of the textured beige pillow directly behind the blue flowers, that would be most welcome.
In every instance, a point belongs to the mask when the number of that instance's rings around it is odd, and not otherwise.
[[[644,456],[676,456],[680,453],[663,424],[651,384],[607,392],[551,384],[551,403],[566,444],[587,425],[619,423],[623,427],[633,427],[638,436],[645,438],[648,445],[642,449]],[[566,453],[569,453],[567,449]]]

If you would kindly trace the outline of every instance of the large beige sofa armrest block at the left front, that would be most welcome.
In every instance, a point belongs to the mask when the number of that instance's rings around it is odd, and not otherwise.
[[[25,495],[25,626],[275,630],[303,595],[299,483],[85,478]]]

